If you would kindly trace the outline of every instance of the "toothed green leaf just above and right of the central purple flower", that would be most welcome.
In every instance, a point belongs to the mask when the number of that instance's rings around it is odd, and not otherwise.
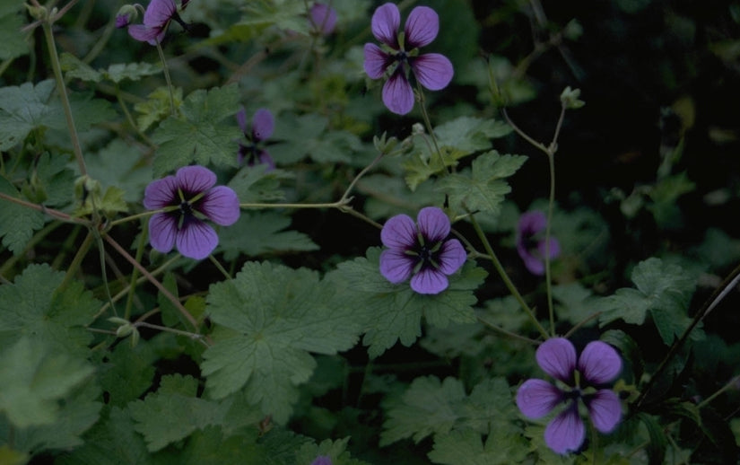
[[[449,195],[449,203],[458,212],[481,211],[498,214],[504,196],[511,191],[508,178],[527,161],[526,156],[500,155],[496,151],[481,154],[471,171],[442,178],[436,190]]]

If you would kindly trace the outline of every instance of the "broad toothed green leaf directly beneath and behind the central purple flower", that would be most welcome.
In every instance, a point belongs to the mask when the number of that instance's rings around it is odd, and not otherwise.
[[[401,341],[411,346],[422,335],[422,317],[432,325],[444,328],[450,321],[475,321],[472,308],[474,290],[483,283],[486,272],[466,263],[461,272],[449,276],[449,287],[440,294],[416,294],[408,283],[391,284],[379,271],[379,248],[370,248],[367,258],[341,263],[329,273],[337,286],[352,289],[349,301],[367,327],[362,343],[371,357],[382,354]]]

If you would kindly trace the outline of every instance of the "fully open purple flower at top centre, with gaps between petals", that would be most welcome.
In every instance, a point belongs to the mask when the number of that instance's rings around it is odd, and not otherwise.
[[[447,87],[454,73],[452,63],[444,55],[419,55],[419,47],[431,43],[440,31],[440,18],[428,6],[417,6],[406,19],[404,32],[399,34],[401,13],[395,4],[382,4],[372,15],[372,35],[383,43],[365,44],[365,72],[372,79],[389,74],[383,85],[383,103],[388,110],[405,115],[414,108],[414,91],[408,82],[409,68],[416,80],[430,91]]]

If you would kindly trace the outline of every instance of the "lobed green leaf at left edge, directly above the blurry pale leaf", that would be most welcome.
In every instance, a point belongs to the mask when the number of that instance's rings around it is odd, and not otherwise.
[[[0,285],[0,350],[23,336],[39,338],[55,352],[87,354],[91,332],[83,328],[100,302],[73,280],[64,289],[65,274],[48,265],[30,265],[12,285]]]

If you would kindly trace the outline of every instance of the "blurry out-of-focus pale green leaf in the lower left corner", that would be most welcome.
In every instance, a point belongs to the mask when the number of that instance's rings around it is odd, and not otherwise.
[[[0,411],[19,428],[57,421],[59,400],[92,374],[83,358],[52,351],[38,338],[20,338],[0,359]]]

